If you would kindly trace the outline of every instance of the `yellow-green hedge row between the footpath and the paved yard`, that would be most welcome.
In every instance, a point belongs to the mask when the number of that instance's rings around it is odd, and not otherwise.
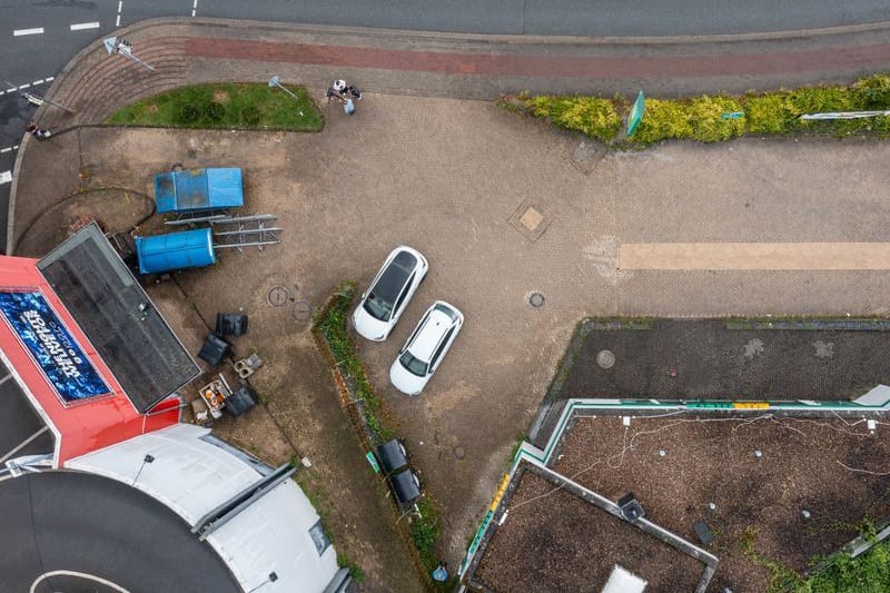
[[[617,144],[615,137],[631,101],[622,97],[522,98],[526,112],[554,125]],[[818,134],[835,137],[867,134],[890,136],[890,118],[813,121],[802,113],[890,109],[890,76],[873,75],[849,87],[818,87],[742,96],[703,95],[685,99],[646,99],[645,115],[625,144],[649,145],[659,140],[689,139],[719,142],[744,135]],[[742,117],[724,118],[741,112]]]

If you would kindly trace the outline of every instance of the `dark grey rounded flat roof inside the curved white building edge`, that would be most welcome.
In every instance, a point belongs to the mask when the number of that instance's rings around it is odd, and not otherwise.
[[[185,522],[119,482],[76,472],[23,474],[0,481],[0,591],[240,591]]]

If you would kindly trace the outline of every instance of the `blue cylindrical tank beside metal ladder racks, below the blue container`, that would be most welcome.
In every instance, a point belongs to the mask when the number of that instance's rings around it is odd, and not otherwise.
[[[136,237],[136,256],[141,274],[157,274],[216,264],[214,236],[209,228]]]

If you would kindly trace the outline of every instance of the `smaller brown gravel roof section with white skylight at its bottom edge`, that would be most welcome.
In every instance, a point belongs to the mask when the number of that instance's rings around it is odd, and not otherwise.
[[[647,591],[693,591],[704,564],[526,472],[475,577],[498,592],[600,591],[615,565]],[[551,494],[548,494],[551,493]]]

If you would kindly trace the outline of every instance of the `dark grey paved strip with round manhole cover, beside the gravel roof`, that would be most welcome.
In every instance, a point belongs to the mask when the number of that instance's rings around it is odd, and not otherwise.
[[[589,324],[560,397],[847,399],[890,382],[879,362],[890,356],[886,322],[798,319],[781,329],[736,329],[721,319],[646,323]],[[611,366],[601,364],[603,353]]]

